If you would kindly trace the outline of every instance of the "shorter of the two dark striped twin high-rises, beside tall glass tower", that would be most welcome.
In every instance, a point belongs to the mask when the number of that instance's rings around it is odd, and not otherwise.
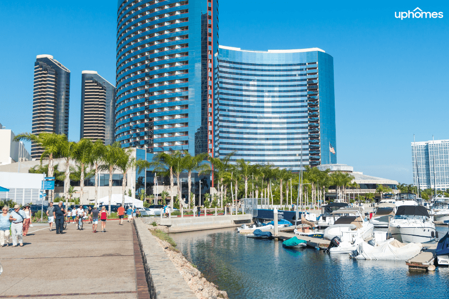
[[[115,86],[95,71],[81,74],[81,138],[115,140]]]

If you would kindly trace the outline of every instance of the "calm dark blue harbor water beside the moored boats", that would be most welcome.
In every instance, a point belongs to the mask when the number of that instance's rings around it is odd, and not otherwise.
[[[439,227],[440,237],[448,231]],[[448,298],[449,269],[409,272],[404,261],[285,249],[234,229],[171,234],[184,256],[231,299]]]

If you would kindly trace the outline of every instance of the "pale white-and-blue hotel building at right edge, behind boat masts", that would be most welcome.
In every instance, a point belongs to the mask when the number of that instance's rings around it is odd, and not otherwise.
[[[418,186],[419,178],[421,189],[435,188],[436,186],[437,190],[448,190],[449,140],[412,142],[412,168],[415,186]]]

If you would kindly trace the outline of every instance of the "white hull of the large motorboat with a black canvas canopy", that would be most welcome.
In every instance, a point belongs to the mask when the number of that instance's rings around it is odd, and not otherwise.
[[[393,238],[402,243],[428,243],[435,241],[435,225],[432,222],[411,222],[390,224]]]

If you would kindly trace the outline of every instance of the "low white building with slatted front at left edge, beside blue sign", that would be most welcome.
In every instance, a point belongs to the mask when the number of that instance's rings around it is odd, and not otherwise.
[[[44,175],[41,173],[0,172],[0,186],[9,189],[0,192],[0,200],[12,200],[18,204],[39,201]]]

